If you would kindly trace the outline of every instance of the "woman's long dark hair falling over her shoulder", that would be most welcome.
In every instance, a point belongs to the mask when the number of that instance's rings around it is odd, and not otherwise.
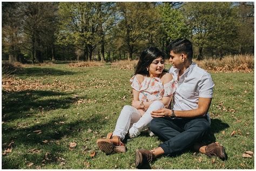
[[[158,48],[152,47],[152,46],[149,48],[146,48],[140,55],[134,75],[149,74],[149,71],[147,71],[147,67],[150,66],[150,64],[153,62],[153,60],[155,60],[159,57],[162,57],[164,59],[164,54]]]

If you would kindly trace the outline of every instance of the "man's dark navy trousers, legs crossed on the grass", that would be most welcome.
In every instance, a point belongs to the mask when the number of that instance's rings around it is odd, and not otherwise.
[[[165,154],[174,154],[200,141],[210,130],[206,118],[153,118],[150,130],[165,142],[159,147]]]

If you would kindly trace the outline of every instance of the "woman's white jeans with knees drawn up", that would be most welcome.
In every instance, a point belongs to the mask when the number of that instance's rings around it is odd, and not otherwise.
[[[154,101],[144,115],[141,116],[140,112],[136,108],[130,105],[125,105],[117,119],[113,136],[118,136],[121,140],[123,140],[129,131],[129,136],[131,138],[137,137],[140,132],[149,127],[149,124],[153,119],[151,117],[151,111],[162,108],[165,108],[162,102]]]

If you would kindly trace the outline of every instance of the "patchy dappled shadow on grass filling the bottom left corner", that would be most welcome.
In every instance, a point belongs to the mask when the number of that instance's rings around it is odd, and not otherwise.
[[[12,129],[11,131],[3,129],[3,142],[10,142],[14,140],[15,143],[12,145],[12,151],[16,151],[19,155],[16,154],[9,156],[8,154],[3,156],[2,168],[20,169],[27,164],[24,164],[24,161],[32,162],[34,164],[33,166],[53,164],[59,165],[61,168],[61,158],[66,158],[66,153],[69,153],[69,143],[71,143],[71,139],[79,137],[79,134],[83,131],[87,132],[87,129],[95,126],[95,123],[98,123],[98,129],[100,129],[100,125],[105,124],[105,120],[99,121],[96,117],[86,120],[76,120],[75,122],[70,123],[65,123],[64,121],[66,121],[64,117],[59,117],[57,119],[50,120],[48,123],[28,126],[21,129]],[[41,130],[42,133],[38,134],[38,132],[33,132],[35,130]],[[89,134],[93,134],[93,132]],[[48,142],[43,143],[45,140],[48,140]],[[58,144],[57,140],[62,140],[64,143]],[[77,146],[83,147],[83,143],[81,143],[81,141],[80,143],[79,141],[76,142],[78,143]],[[3,149],[7,147],[8,143],[2,145]],[[23,148],[23,150],[25,148],[26,151],[23,153],[21,151],[17,152],[18,148]],[[32,148],[40,149],[41,152],[39,154],[30,153],[28,149]],[[78,147],[74,149],[74,152],[81,153],[77,148]]]

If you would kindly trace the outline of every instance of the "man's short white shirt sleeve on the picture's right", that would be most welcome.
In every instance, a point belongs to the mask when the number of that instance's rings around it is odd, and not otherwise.
[[[209,73],[204,74],[198,84],[199,97],[212,98],[214,83]]]

